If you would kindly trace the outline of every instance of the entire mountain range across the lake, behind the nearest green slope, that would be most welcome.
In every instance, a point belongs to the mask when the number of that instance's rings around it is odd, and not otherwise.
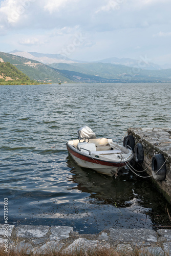
[[[148,67],[149,69],[141,69],[141,66],[130,67],[118,63],[114,64],[114,62],[117,61],[116,58],[104,59],[101,62],[80,63],[59,54],[26,53],[25,56],[30,58],[21,57],[17,54],[18,52],[16,52],[16,50],[13,54],[0,52],[0,58],[3,58],[5,62],[10,62],[17,69],[25,73],[30,79],[36,80],[37,82],[171,82],[171,69],[156,70],[157,66],[155,66],[154,63],[148,63],[149,66],[153,66],[153,68]],[[24,52],[22,54],[24,55]],[[54,63],[52,61],[53,63],[46,65],[40,61],[31,59],[32,56],[36,59],[50,58],[51,61],[54,59],[60,61],[60,59],[63,58],[63,62]],[[112,63],[109,63],[110,60]],[[69,61],[70,63],[65,63],[64,61]],[[122,59],[122,61],[128,60]],[[134,63],[136,64],[139,62]]]

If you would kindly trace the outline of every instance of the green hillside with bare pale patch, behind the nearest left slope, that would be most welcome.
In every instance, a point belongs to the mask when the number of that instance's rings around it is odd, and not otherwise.
[[[72,82],[72,80],[63,76],[59,70],[53,69],[36,60],[27,59],[4,52],[0,52],[0,58],[3,58],[5,62],[10,62],[17,69],[25,73],[30,79],[38,82]]]

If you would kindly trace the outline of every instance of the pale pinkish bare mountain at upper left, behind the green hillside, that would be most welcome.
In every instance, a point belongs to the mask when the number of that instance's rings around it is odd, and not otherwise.
[[[45,54],[45,53],[37,53],[37,52],[23,52],[14,50],[12,52],[9,52],[10,54],[25,57],[28,59],[33,59],[36,61],[39,61],[44,64],[51,64],[51,63],[74,63],[79,62],[76,60],[71,60],[67,58],[66,56],[63,56],[61,54]]]

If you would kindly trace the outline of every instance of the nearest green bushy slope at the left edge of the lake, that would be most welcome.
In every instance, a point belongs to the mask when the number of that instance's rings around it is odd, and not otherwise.
[[[3,59],[0,59],[0,85],[6,84],[37,84],[37,82],[9,62],[3,62]]]

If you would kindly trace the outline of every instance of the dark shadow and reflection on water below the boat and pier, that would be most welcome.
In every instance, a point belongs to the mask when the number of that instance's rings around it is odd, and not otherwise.
[[[67,163],[73,173],[72,180],[81,192],[89,193],[89,198],[99,201],[101,205],[113,206],[109,207],[111,211],[118,210],[121,222],[114,220],[114,217],[113,227],[171,228],[168,217],[171,207],[148,178],[139,178],[131,170],[124,169],[124,173],[115,179],[79,167],[70,156]]]

